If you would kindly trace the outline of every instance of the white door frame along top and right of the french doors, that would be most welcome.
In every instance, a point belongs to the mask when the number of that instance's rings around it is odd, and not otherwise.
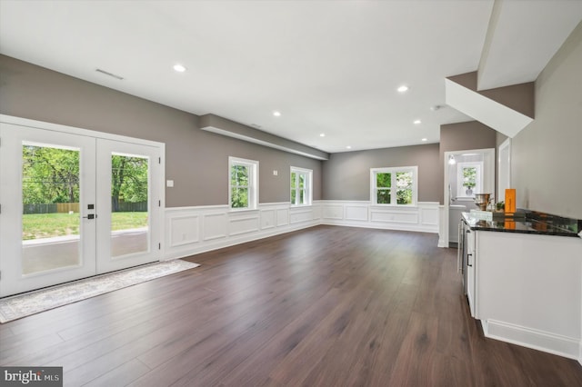
[[[75,135],[82,135],[86,137],[93,137],[95,139],[105,139],[105,140],[112,140],[117,142],[125,142],[129,144],[141,144],[147,145],[150,147],[156,147],[159,152],[159,174],[156,176],[156,181],[152,180],[151,184],[156,186],[156,194],[157,197],[155,198],[156,202],[159,201],[159,206],[153,206],[152,211],[157,212],[156,218],[158,222],[156,227],[152,230],[151,237],[160,243],[160,249],[157,250],[157,259],[163,260],[165,256],[164,252],[164,243],[165,241],[165,221],[164,221],[164,213],[166,207],[166,188],[165,188],[165,181],[166,181],[166,144],[158,143],[155,141],[143,140],[128,136],[123,136],[119,134],[107,134],[102,132],[96,132],[92,130],[76,128],[73,126],[66,126],[61,124],[51,124],[45,123],[42,121],[30,120],[22,117],[15,117],[6,114],[0,114],[0,122],[3,124],[13,124],[16,126],[23,126],[33,128],[33,129],[41,129],[46,131],[47,134],[50,135],[50,132],[54,132],[55,134],[75,134]],[[0,152],[2,152],[2,148],[0,147]],[[157,162],[157,160],[156,160]],[[0,169],[8,168],[8,165],[0,165]],[[5,171],[0,171],[0,173],[4,174]],[[2,204],[2,203],[0,203]],[[0,215],[1,216],[1,215]],[[2,258],[2,257],[0,257]]]

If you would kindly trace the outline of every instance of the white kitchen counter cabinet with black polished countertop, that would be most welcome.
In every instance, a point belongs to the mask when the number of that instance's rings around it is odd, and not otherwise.
[[[582,363],[582,221],[522,210],[463,222],[467,298],[485,335]]]

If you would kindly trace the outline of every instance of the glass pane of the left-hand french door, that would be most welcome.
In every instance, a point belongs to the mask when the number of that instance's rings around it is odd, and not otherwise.
[[[81,260],[80,149],[22,145],[22,274]]]

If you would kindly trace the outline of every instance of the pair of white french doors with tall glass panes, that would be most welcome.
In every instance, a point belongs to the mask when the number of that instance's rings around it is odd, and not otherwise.
[[[5,123],[0,138],[0,296],[159,260],[159,146]]]

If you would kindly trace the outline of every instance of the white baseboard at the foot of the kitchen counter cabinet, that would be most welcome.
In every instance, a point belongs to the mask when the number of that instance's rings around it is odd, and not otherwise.
[[[582,342],[580,339],[495,320],[481,321],[481,325],[485,336],[491,339],[557,354],[578,362],[581,360],[580,348],[582,348]]]

